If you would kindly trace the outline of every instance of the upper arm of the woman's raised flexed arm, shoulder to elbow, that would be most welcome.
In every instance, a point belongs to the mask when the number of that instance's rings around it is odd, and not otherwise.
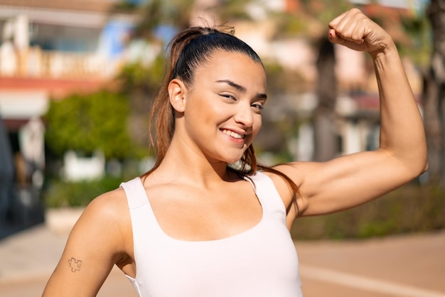
[[[298,215],[345,210],[400,187],[415,176],[387,151],[365,151],[328,162],[278,166],[299,185]]]

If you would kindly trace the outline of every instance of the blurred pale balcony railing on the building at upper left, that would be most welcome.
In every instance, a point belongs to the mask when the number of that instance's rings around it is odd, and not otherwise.
[[[69,80],[106,80],[119,69],[118,60],[97,53],[69,53],[33,47],[17,52],[0,47],[0,76]]]

